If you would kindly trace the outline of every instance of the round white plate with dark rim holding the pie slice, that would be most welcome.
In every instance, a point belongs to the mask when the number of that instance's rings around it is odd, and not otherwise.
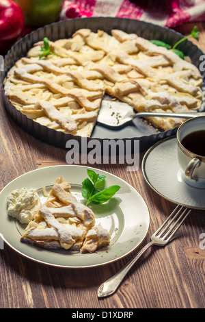
[[[89,168],[92,169],[92,168]],[[111,245],[96,253],[74,253],[71,251],[54,251],[40,249],[20,242],[24,227],[7,214],[6,200],[17,188],[38,188],[42,196],[42,186],[52,186],[57,177],[63,176],[71,184],[72,193],[79,199],[81,183],[87,177],[86,166],[59,165],[49,166],[25,173],[5,186],[0,194],[0,230],[5,243],[23,256],[55,267],[85,268],[96,267],[113,262],[133,251],[148,233],[150,214],[148,207],[137,190],[124,180],[98,169],[100,175],[106,175],[106,186],[118,184],[121,188],[116,196],[105,204],[92,207],[96,223],[101,223],[111,234]]]

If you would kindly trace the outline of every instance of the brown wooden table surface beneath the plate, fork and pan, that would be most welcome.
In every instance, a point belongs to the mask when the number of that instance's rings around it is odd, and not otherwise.
[[[200,28],[200,42],[193,42],[205,52],[205,23],[197,25]],[[176,30],[186,35],[192,28],[193,23],[189,23]],[[66,149],[55,148],[33,138],[16,125],[2,103],[0,108],[1,189],[27,171],[66,164]],[[140,160],[142,158],[143,153]],[[118,175],[139,191],[150,210],[150,230],[145,240],[136,251],[122,260],[92,269],[49,267],[20,256],[4,244],[4,249],[0,250],[0,307],[104,310],[204,308],[205,249],[200,249],[200,234],[205,233],[205,212],[201,210],[192,211],[172,243],[148,250],[114,295],[98,299],[98,286],[146,245],[151,234],[176,205],[157,195],[146,184],[141,167],[138,171],[128,172],[124,164],[91,166]]]

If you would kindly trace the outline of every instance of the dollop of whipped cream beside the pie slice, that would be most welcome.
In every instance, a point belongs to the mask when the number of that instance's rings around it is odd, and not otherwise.
[[[35,188],[13,190],[7,199],[8,215],[16,218],[20,223],[29,223],[40,206],[40,197]]]

